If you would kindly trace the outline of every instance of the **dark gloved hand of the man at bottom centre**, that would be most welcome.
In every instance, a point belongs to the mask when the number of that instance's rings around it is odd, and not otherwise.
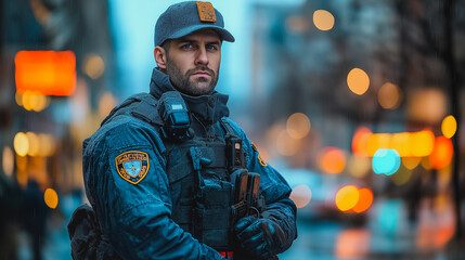
[[[245,217],[237,221],[234,233],[242,249],[258,259],[269,259],[284,240],[281,227],[269,219]]]

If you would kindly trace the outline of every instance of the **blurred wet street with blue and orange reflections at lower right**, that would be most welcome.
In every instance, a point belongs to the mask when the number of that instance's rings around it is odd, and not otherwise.
[[[465,244],[455,243],[451,205],[421,205],[410,222],[402,200],[373,206],[363,225],[299,218],[299,237],[282,260],[460,260]],[[301,217],[301,214],[299,214]]]

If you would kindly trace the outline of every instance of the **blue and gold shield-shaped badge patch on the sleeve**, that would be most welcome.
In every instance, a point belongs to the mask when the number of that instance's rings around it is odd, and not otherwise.
[[[126,181],[138,184],[148,171],[148,155],[139,151],[129,151],[115,158],[116,170]]]

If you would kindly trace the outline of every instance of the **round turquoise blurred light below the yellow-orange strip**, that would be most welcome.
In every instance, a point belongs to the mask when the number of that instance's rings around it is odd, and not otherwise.
[[[396,150],[380,148],[373,156],[373,171],[376,174],[393,174],[400,167],[400,156]]]

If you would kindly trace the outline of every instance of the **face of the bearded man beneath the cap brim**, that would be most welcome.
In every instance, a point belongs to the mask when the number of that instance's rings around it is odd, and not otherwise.
[[[170,42],[166,72],[182,93],[205,95],[214,91],[221,63],[221,39],[211,29],[197,30]]]

